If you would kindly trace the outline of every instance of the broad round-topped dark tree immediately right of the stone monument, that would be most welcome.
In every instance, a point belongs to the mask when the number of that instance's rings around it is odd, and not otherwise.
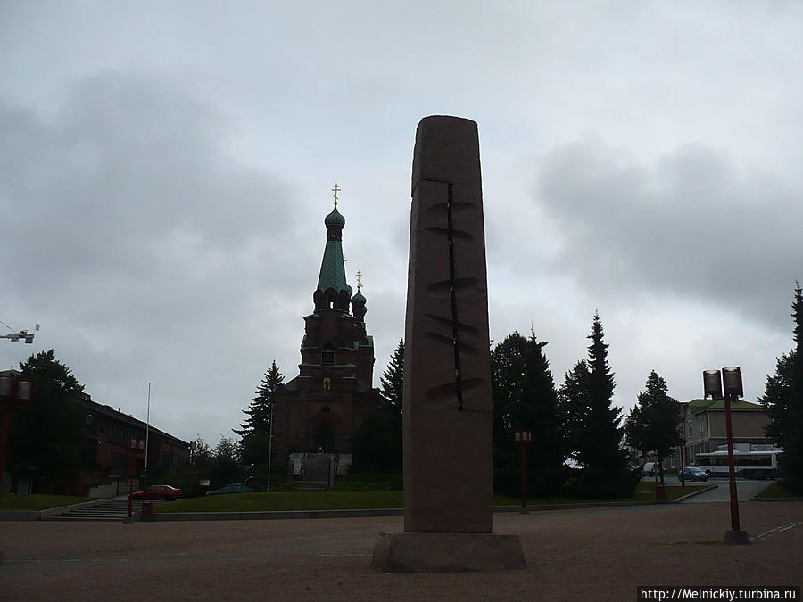
[[[563,450],[558,395],[543,352],[546,342],[534,334],[510,334],[491,353],[493,398],[494,491],[518,495],[521,450],[513,431],[533,433],[527,451],[527,491],[549,495],[563,484]]]

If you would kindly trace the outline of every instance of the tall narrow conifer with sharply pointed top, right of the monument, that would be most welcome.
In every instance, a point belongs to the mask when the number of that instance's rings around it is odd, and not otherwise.
[[[625,498],[633,494],[636,481],[622,445],[622,408],[612,403],[615,384],[599,312],[594,313],[588,338],[588,405],[576,454],[582,475],[573,489],[575,495],[586,498]]]

